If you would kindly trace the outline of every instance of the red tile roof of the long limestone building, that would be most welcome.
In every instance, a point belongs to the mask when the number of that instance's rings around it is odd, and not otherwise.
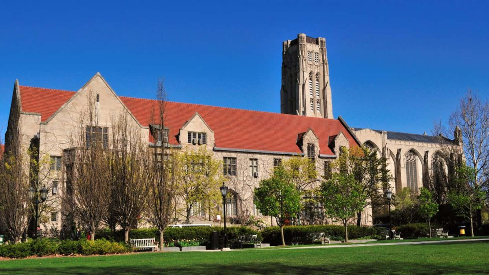
[[[20,87],[22,111],[40,113],[41,121],[54,114],[74,94],[69,91]],[[152,113],[157,114],[159,109],[156,100],[125,96],[119,98],[142,126],[158,123],[152,120]],[[330,137],[339,132],[343,132],[350,146],[356,145],[355,139],[338,119],[166,102],[165,126],[170,129],[171,144],[178,144],[176,136],[180,128],[196,112],[214,131],[214,145],[220,148],[302,153],[296,144],[297,135],[306,132],[308,128],[319,138],[321,154],[333,155],[328,144]]]

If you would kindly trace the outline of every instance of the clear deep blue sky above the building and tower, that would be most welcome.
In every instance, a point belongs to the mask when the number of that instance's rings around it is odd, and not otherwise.
[[[430,133],[467,88],[489,94],[487,1],[2,2],[0,128],[16,78],[76,91],[99,71],[118,95],[280,112],[282,41],[325,37],[333,115]],[[181,4],[177,3],[181,2]]]

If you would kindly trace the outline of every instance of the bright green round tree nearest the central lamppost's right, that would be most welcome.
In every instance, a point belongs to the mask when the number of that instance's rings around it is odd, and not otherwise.
[[[256,207],[263,215],[275,217],[285,246],[284,225],[301,209],[301,193],[290,183],[283,167],[277,167],[272,177],[260,182],[255,198]]]

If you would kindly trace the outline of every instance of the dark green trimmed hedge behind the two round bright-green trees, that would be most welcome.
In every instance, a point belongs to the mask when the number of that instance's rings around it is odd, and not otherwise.
[[[370,237],[373,239],[380,238],[379,228],[348,226],[348,239],[358,239]],[[317,226],[286,226],[284,227],[284,239],[286,243],[292,240],[306,241],[310,233],[324,232],[332,240],[343,240],[345,228],[339,225],[317,225]],[[267,227],[262,231],[264,243],[270,245],[281,245],[280,227]]]

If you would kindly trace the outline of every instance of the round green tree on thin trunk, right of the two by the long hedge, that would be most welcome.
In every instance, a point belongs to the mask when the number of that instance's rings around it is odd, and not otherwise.
[[[348,242],[348,224],[363,209],[367,199],[362,185],[353,174],[333,173],[331,179],[322,183],[321,191],[326,215],[342,222],[345,242]]]

